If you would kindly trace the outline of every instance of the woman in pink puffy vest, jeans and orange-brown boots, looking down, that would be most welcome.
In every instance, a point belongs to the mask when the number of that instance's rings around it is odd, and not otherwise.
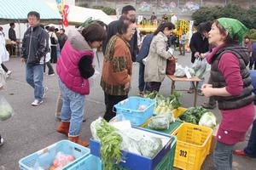
[[[79,140],[79,134],[83,122],[85,95],[90,93],[88,78],[94,74],[92,48],[99,48],[106,37],[106,31],[98,24],[87,26],[82,33],[77,30],[69,31],[56,65],[63,99],[61,124],[57,131],[84,146],[89,143]]]

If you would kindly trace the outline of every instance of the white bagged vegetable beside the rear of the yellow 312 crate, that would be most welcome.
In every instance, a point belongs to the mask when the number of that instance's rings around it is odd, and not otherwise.
[[[217,125],[216,116],[212,112],[206,112],[201,116],[198,125],[213,128]]]

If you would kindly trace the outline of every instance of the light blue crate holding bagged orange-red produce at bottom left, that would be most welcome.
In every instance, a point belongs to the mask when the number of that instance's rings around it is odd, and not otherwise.
[[[20,169],[33,170],[35,169],[36,165],[43,167],[44,169],[49,169],[55,160],[56,154],[60,151],[64,154],[72,155],[75,157],[75,161],[63,167],[63,170],[67,169],[67,167],[70,165],[78,162],[90,154],[90,149],[85,148],[80,144],[73,143],[69,140],[61,140],[60,142],[49,145],[43,150],[38,150],[37,152],[20,159]]]

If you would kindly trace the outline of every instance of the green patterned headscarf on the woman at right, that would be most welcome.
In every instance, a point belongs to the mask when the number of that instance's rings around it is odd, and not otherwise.
[[[239,20],[231,18],[219,18],[218,22],[230,33],[230,37],[238,37],[239,42],[243,41],[243,37],[247,32],[247,27],[244,26]]]

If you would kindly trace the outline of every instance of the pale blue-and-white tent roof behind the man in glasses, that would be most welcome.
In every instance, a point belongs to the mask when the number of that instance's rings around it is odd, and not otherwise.
[[[61,22],[61,15],[49,8],[44,0],[0,0],[0,24],[26,22],[30,11],[37,11],[41,21],[53,24]]]

